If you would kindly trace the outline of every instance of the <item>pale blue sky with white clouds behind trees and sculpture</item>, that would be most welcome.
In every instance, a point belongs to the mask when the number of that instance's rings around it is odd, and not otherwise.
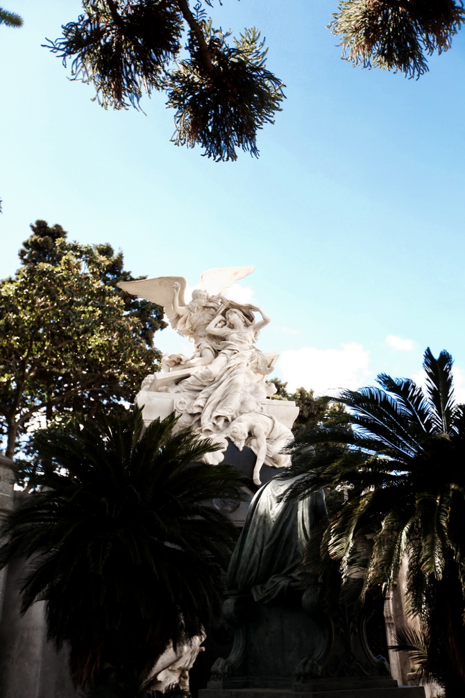
[[[335,3],[224,0],[216,24],[261,29],[287,100],[258,160],[213,163],[169,142],[162,95],[144,99],[146,115],[110,112],[67,80],[40,44],[79,2],[8,9],[25,23],[0,27],[0,277],[37,218],[121,248],[134,274],[193,285],[210,267],[254,265],[241,293],[271,316],[259,346],[282,352],[290,387],[418,376],[431,346],[455,357],[465,399],[465,34],[406,80],[340,59]]]

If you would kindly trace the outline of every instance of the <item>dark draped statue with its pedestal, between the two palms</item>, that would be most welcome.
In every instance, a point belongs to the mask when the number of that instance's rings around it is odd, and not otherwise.
[[[399,687],[372,652],[373,609],[323,606],[319,575],[302,560],[326,517],[324,495],[286,499],[299,477],[283,473],[252,500],[227,572],[234,645],[199,698],[424,698],[423,688]]]

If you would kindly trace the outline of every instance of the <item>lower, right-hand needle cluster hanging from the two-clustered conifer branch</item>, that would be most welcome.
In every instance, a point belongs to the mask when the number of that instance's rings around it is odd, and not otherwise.
[[[264,67],[266,51],[255,29],[245,30],[234,47],[226,35],[202,24],[211,60],[208,70],[192,38],[191,59],[171,72],[168,106],[176,109],[177,145],[199,143],[215,160],[236,160],[236,148],[256,157],[257,131],[273,124],[280,111],[282,83]]]

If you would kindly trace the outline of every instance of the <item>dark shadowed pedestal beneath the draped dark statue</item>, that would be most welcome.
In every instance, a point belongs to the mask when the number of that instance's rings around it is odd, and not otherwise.
[[[234,646],[213,664],[199,698],[425,697],[418,686],[399,687],[386,660],[371,653],[364,614],[344,609],[330,618],[314,599],[296,590],[269,607],[230,593],[223,611]]]

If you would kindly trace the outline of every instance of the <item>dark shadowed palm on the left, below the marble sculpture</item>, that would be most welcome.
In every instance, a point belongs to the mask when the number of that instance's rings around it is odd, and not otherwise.
[[[241,498],[234,468],[176,417],[144,431],[141,410],[86,419],[36,438],[38,491],[3,525],[0,566],[29,558],[22,611],[46,601],[49,639],[70,648],[70,676],[95,695],[133,698],[172,641],[218,613],[236,528],[208,506]]]

